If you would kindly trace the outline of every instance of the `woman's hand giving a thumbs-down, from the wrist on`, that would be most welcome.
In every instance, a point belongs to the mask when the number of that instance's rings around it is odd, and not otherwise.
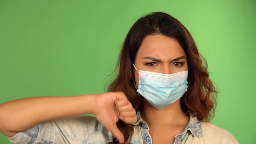
[[[136,111],[123,92],[107,92],[95,96],[94,115],[106,129],[112,132],[120,143],[124,142],[124,135],[117,128],[117,121],[121,119],[127,124],[137,121]]]

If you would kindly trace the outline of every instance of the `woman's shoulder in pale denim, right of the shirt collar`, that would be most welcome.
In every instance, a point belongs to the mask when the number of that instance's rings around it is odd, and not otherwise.
[[[236,138],[230,132],[208,122],[200,122],[203,139],[213,139],[217,143],[238,144]]]

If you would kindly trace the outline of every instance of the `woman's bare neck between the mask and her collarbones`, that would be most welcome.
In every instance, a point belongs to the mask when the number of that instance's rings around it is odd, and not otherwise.
[[[189,117],[182,111],[181,99],[178,99],[167,108],[158,110],[154,108],[147,100],[142,100],[143,109],[141,118],[148,124],[149,127],[166,127],[187,125]]]

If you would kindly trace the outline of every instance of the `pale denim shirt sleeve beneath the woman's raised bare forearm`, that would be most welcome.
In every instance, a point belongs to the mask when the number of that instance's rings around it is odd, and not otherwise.
[[[46,121],[7,138],[13,144],[85,144],[97,127],[95,117],[83,115]]]

